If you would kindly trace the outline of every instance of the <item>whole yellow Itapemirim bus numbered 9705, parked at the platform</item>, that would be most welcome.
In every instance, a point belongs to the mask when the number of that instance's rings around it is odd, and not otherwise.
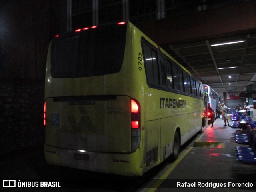
[[[132,23],[55,36],[45,80],[45,159],[141,176],[204,124],[202,83]]]

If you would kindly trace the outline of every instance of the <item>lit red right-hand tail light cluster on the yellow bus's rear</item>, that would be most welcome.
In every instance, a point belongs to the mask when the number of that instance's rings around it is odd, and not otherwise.
[[[140,145],[140,104],[131,99],[131,142],[132,152]]]

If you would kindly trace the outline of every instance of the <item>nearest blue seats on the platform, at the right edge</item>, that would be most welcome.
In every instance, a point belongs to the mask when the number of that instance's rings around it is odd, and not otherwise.
[[[256,164],[256,134],[252,132],[252,128],[247,126],[246,133],[235,134],[235,142],[238,144],[249,145],[236,146],[236,160],[246,164]]]

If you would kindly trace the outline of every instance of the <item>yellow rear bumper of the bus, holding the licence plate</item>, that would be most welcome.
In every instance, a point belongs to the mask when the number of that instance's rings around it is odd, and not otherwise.
[[[45,160],[49,164],[72,167],[93,172],[141,176],[140,148],[133,153],[115,154],[70,150],[44,145]]]

